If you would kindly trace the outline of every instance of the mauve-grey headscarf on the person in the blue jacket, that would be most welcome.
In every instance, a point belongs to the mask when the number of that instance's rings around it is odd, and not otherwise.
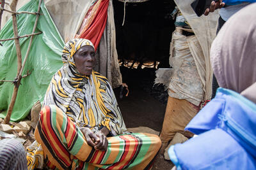
[[[211,47],[211,64],[220,87],[256,103],[256,3],[223,25]]]

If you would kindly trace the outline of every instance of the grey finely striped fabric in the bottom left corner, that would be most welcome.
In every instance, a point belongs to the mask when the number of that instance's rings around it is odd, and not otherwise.
[[[26,152],[19,141],[0,140],[0,169],[28,169]]]

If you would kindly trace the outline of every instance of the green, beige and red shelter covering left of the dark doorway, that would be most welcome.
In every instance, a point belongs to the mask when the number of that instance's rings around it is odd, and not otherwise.
[[[22,1],[19,6],[22,6],[22,3],[26,3],[26,1]],[[37,6],[38,0],[31,0],[20,8],[19,11],[36,11]],[[45,3],[42,3],[40,8],[42,15],[38,19],[36,31],[41,31],[42,34],[33,39],[28,61],[23,72],[26,73],[26,71],[29,71],[31,74],[21,80],[22,85],[20,85],[16,104],[13,108],[12,121],[25,118],[33,104],[37,101],[43,101],[52,75],[63,65],[61,62],[61,51],[64,43],[71,38],[92,39],[97,36],[98,38],[93,41],[96,48],[99,45],[97,50],[99,63],[95,71],[99,71],[106,76],[110,83],[113,82],[113,87],[118,87],[122,84],[115,48],[115,25],[113,22],[112,1],[63,2],[45,0]],[[102,17],[102,15],[104,16]],[[10,15],[4,17],[4,22],[8,17]],[[102,19],[100,20],[99,18]],[[17,23],[20,35],[31,32],[31,29],[33,29],[33,20],[35,20],[35,16],[33,15],[19,15]],[[85,20],[90,22],[86,25]],[[85,24],[81,25],[82,22]],[[102,26],[99,31],[97,30],[97,26],[100,24]],[[85,27],[89,27],[89,29],[85,29]],[[89,31],[83,32],[83,29]],[[82,33],[81,35],[77,35],[78,30]],[[0,39],[11,38],[13,37],[12,34],[12,21],[9,20],[1,30]],[[28,42],[28,38],[20,39],[22,57],[26,53]],[[4,41],[2,44],[3,46],[0,47],[0,80],[13,80],[17,71],[15,44],[13,41]],[[10,104],[12,89],[13,85],[10,82],[0,83],[0,117],[2,118],[5,117],[8,105]]]

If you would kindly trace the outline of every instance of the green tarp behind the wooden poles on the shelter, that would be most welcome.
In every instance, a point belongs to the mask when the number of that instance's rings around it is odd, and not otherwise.
[[[32,0],[19,11],[36,12],[38,0]],[[12,112],[12,121],[25,118],[36,101],[43,101],[47,87],[56,71],[63,66],[61,62],[61,52],[64,41],[54,25],[54,22],[45,8],[41,4],[38,25],[35,32],[42,32],[33,38],[31,50],[29,52],[23,74],[31,71],[31,74],[22,78],[17,94],[17,99]],[[35,24],[36,15],[20,14],[17,17],[19,36],[31,34]],[[0,39],[12,38],[12,20],[9,20],[0,32]],[[20,48],[22,60],[26,55],[30,38],[20,38]],[[17,74],[17,55],[14,40],[2,42],[0,46],[0,80],[14,80]],[[0,117],[4,118],[10,104],[13,92],[13,84],[10,82],[0,82]]]

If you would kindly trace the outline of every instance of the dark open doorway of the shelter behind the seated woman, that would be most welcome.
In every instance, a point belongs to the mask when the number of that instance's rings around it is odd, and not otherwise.
[[[129,96],[123,99],[115,90],[125,124],[160,132],[168,93],[163,86],[154,86],[154,79],[157,68],[170,67],[170,41],[175,29],[171,13],[175,3],[125,3],[125,12],[123,2],[113,1],[113,6],[118,61],[123,82],[129,86]]]

